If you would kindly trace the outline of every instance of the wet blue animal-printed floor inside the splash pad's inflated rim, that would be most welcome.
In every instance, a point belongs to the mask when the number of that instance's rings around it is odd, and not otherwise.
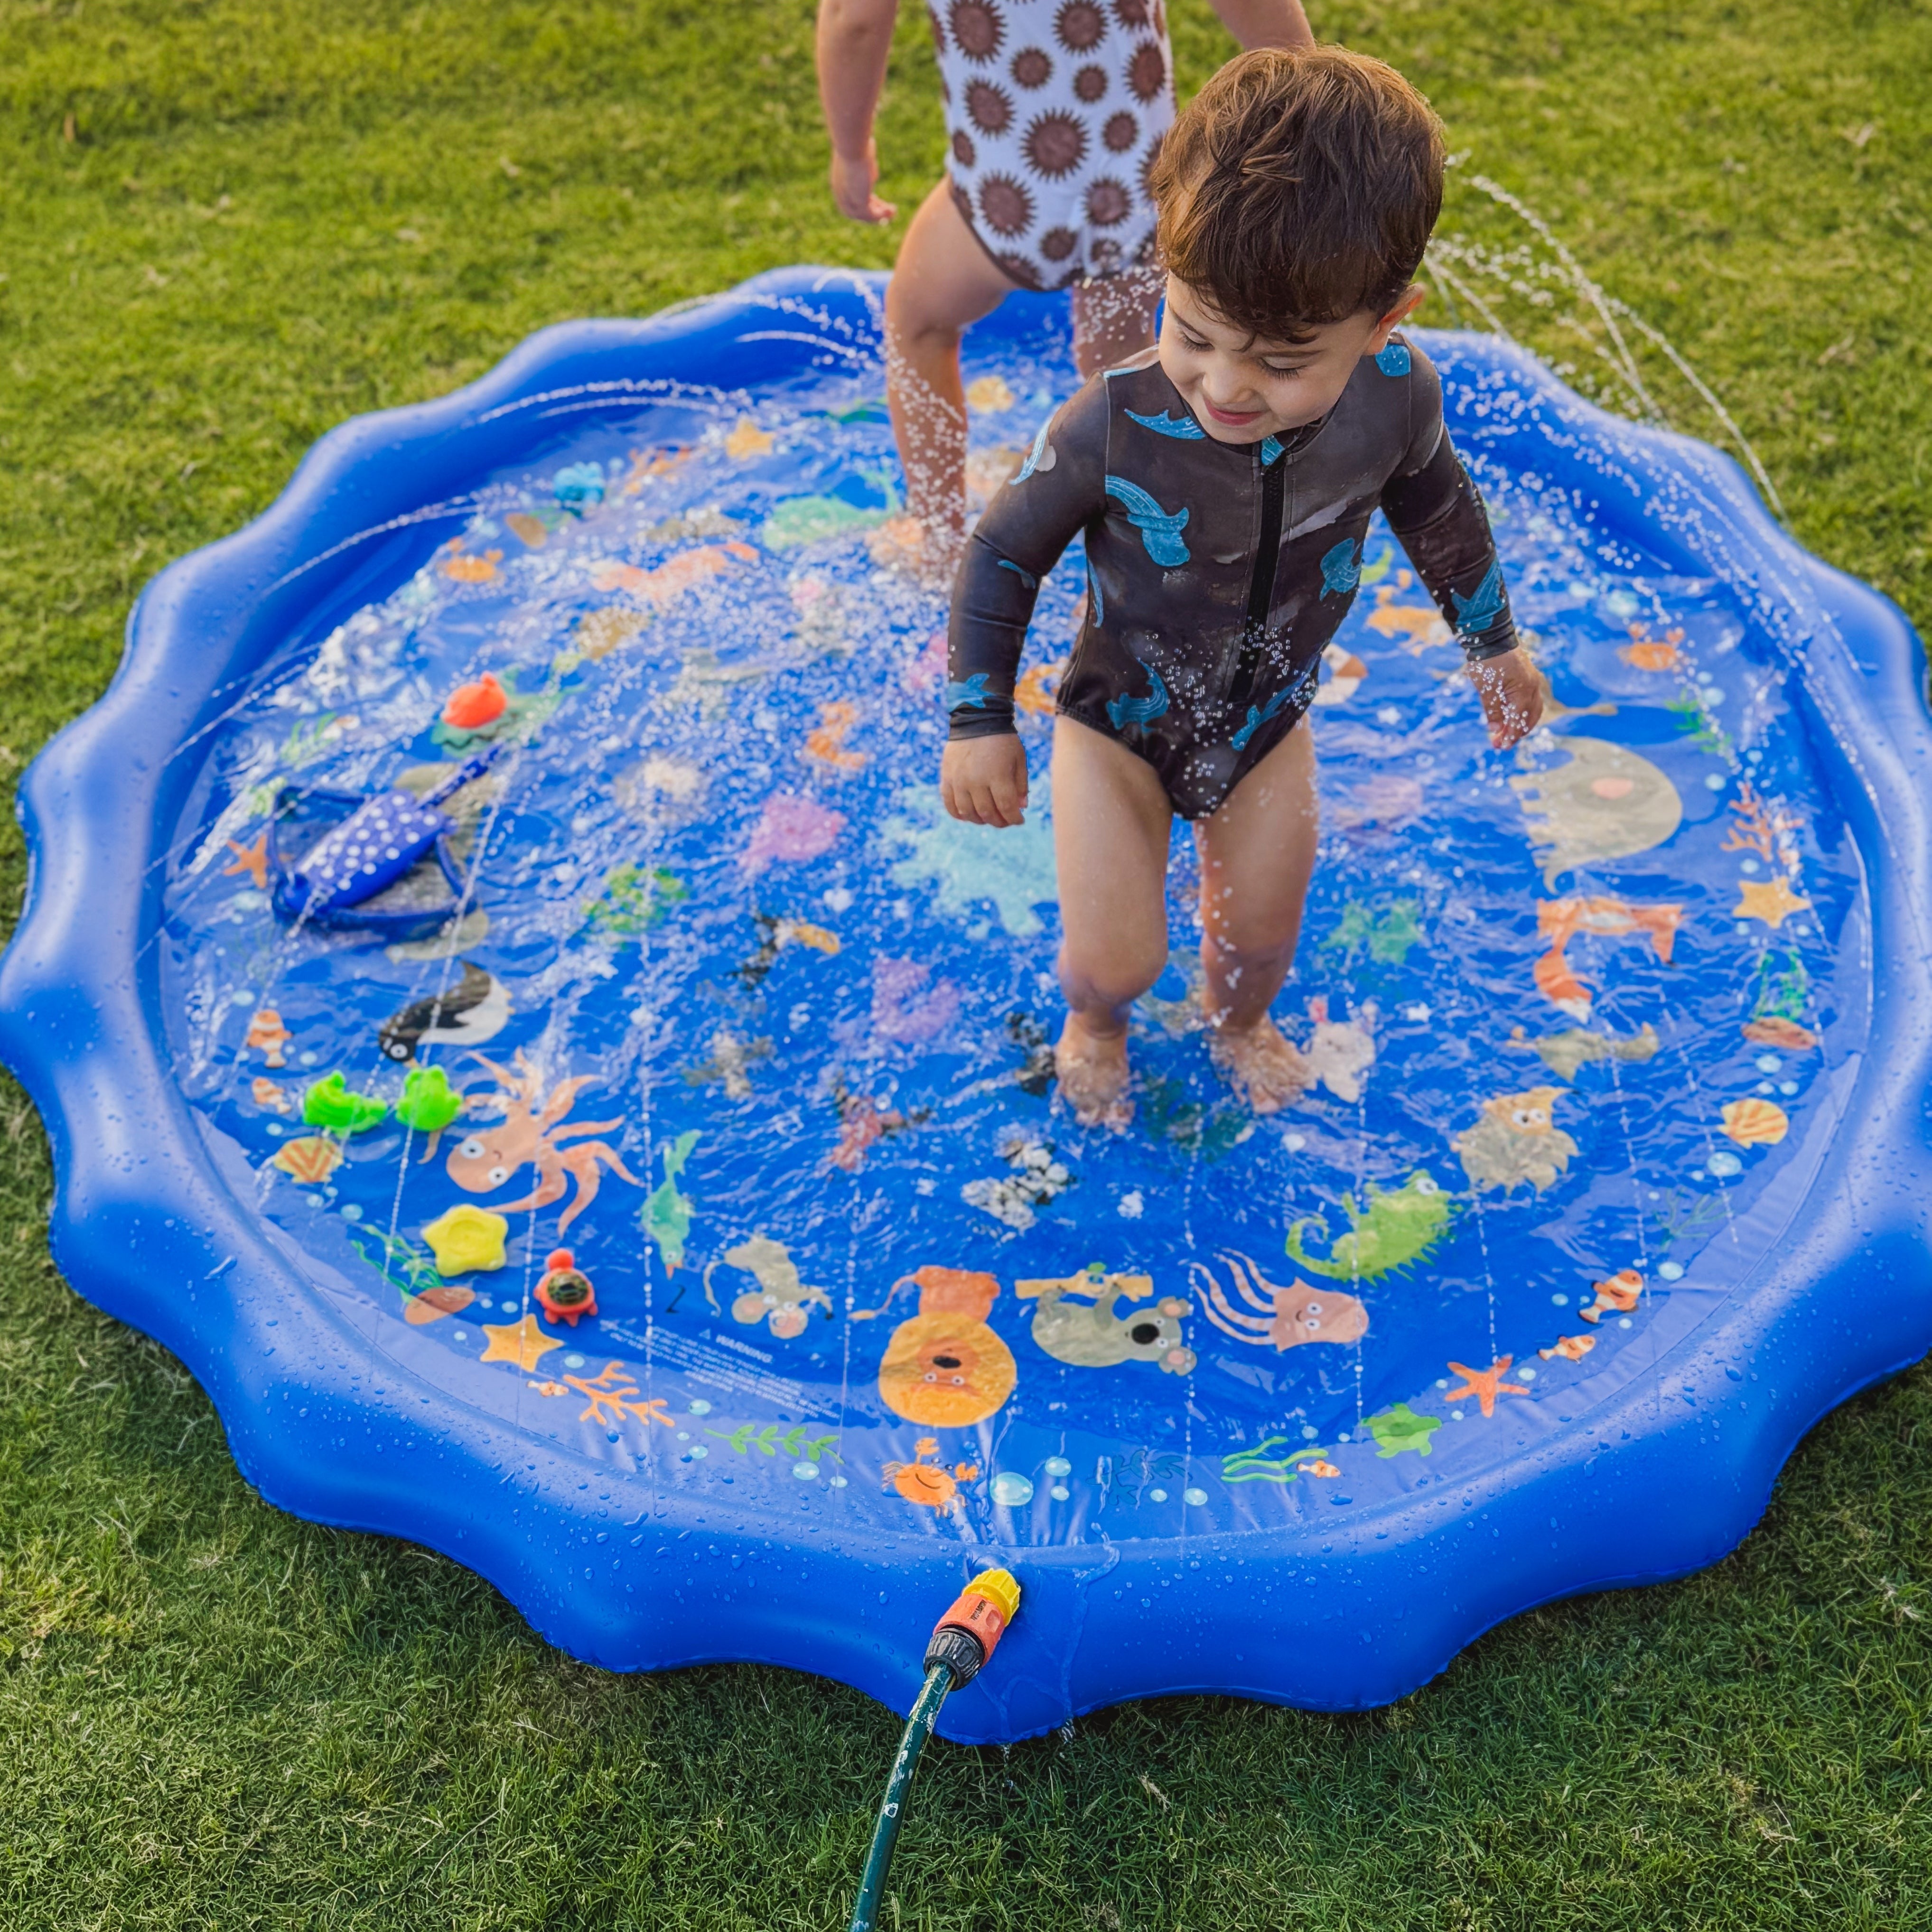
[[[1072,386],[1036,350],[968,367],[981,491]],[[871,560],[877,392],[585,429],[205,740],[168,1051],[311,1293],[591,1476],[1016,1548],[1366,1509],[1650,1374],[1776,1244],[1864,1047],[1789,643],[1466,442],[1551,723],[1490,752],[1378,524],[1275,1007],[1320,1086],[1256,1119],[1209,1066],[1182,837],[1134,1126],[1082,1132],[1047,779],[1080,558],[1028,647],[1028,823],[956,825],[943,611]],[[276,916],[276,852],[489,744],[446,922],[433,864],[384,900],[427,935]]]

